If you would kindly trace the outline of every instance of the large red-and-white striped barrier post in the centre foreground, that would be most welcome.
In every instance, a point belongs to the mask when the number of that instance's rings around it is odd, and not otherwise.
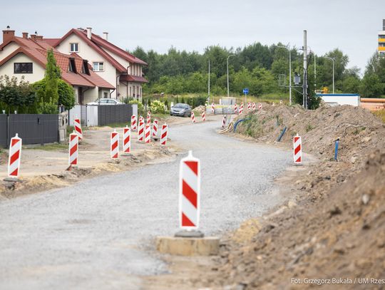
[[[182,229],[197,229],[200,217],[200,160],[188,157],[180,160],[179,222]]]

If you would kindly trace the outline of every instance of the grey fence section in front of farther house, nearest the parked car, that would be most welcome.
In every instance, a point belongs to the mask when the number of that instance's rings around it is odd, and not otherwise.
[[[132,105],[99,105],[98,125],[128,123],[133,115]]]

